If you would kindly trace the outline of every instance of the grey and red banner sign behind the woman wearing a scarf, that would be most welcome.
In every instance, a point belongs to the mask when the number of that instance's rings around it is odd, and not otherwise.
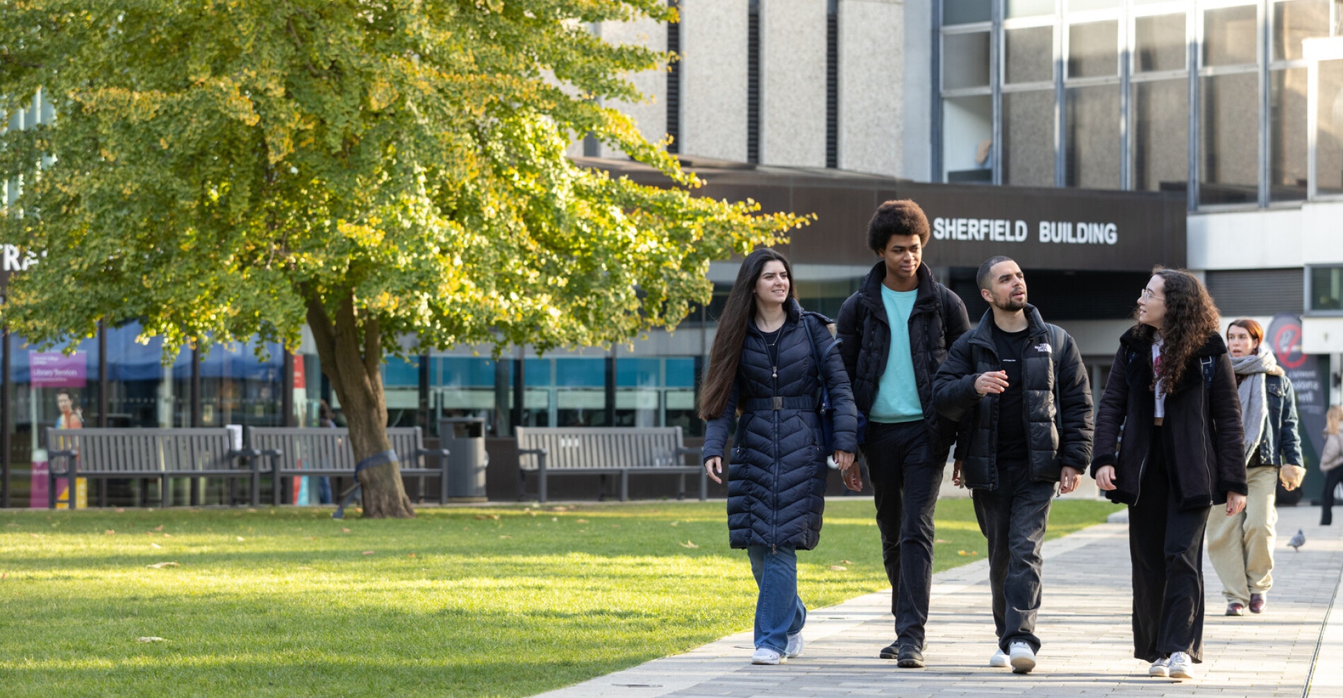
[[[1296,391],[1297,432],[1301,435],[1301,455],[1305,458],[1307,481],[1319,471],[1320,454],[1324,450],[1324,412],[1330,407],[1330,396],[1324,377],[1328,376],[1328,356],[1301,353],[1301,317],[1291,313],[1273,315],[1264,341],[1273,349],[1277,364],[1287,372]],[[1303,483],[1303,490],[1313,493],[1315,487]]]

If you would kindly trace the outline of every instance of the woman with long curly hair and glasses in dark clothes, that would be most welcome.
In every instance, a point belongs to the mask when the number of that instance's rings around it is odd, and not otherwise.
[[[1191,274],[1152,270],[1096,415],[1092,477],[1128,505],[1133,656],[1152,677],[1193,678],[1203,660],[1207,517],[1245,509],[1241,401],[1218,318]]]

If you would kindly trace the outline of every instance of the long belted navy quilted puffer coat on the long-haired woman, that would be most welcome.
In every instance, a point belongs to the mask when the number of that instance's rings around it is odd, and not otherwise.
[[[737,381],[723,415],[709,421],[704,458],[725,456],[728,427],[741,416],[728,460],[728,542],[810,550],[821,541],[826,456],[821,448],[821,384],[813,340],[823,356],[826,388],[834,405],[835,448],[858,450],[858,412],[849,377],[823,315],[788,301],[779,334],[778,376],[764,336],[751,325],[741,342]],[[811,334],[811,338],[807,334]]]

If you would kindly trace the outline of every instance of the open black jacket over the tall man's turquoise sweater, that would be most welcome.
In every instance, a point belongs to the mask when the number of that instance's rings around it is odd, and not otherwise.
[[[937,444],[935,455],[941,463],[956,440],[956,421],[941,419],[933,409],[932,380],[937,366],[947,360],[947,349],[970,329],[970,317],[966,303],[951,289],[937,283],[928,264],[919,264],[917,274],[919,294],[909,311],[909,349],[924,424]],[[885,278],[886,263],[877,262],[858,291],[839,307],[839,354],[853,384],[853,401],[864,415],[872,412],[890,356],[890,322],[881,302],[881,282]]]

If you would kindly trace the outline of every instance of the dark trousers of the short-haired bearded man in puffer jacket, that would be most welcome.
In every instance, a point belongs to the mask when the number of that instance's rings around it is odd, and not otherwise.
[[[1001,458],[1001,456],[999,456]],[[994,630],[1006,652],[1014,642],[1039,651],[1035,616],[1039,615],[1039,575],[1045,558],[1049,509],[1057,482],[1033,482],[1025,462],[998,462],[995,490],[974,490],[975,518],[988,540],[988,584],[994,599]]]

